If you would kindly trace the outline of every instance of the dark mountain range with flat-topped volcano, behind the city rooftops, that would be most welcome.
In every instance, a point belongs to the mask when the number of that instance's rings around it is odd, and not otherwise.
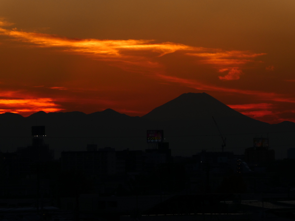
[[[191,156],[202,149],[221,151],[222,140],[213,121],[227,137],[224,151],[243,154],[253,146],[253,137],[269,137],[276,158],[285,157],[294,147],[295,123],[269,124],[245,116],[206,93],[185,93],[153,109],[142,117],[131,117],[106,109],[91,114],[83,112],[45,113],[28,117],[15,113],[0,114],[1,151],[14,151],[31,144],[31,126],[45,125],[45,143],[55,150],[85,151],[87,144],[116,150],[144,150],[146,131],[163,129],[172,155]]]

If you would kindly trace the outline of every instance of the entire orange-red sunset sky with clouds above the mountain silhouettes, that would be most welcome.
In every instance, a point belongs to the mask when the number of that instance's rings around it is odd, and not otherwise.
[[[294,0],[0,0],[0,113],[142,116],[208,93],[295,122]]]

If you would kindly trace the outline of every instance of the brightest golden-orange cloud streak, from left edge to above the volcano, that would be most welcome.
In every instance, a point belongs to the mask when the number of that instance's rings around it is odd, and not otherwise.
[[[65,51],[82,52],[95,54],[97,57],[119,58],[122,57],[122,50],[152,51],[160,55],[175,52],[177,50],[189,50],[191,47],[164,42],[152,44],[153,40],[98,40],[98,39],[69,39],[50,34],[35,32],[23,32],[17,29],[0,28],[2,35],[14,37],[23,42],[33,43],[40,47],[62,47]],[[128,56],[127,56],[128,57]]]

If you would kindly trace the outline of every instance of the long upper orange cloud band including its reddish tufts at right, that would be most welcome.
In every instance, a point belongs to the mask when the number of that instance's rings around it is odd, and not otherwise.
[[[115,62],[116,66],[124,70],[139,73],[145,73],[147,69],[151,69],[149,72],[153,73],[153,69],[163,67],[153,61],[153,58],[183,51],[187,56],[199,57],[198,62],[201,64],[212,65],[217,70],[227,69],[229,72],[224,77],[219,76],[221,80],[239,79],[246,64],[255,62],[255,57],[265,55],[265,53],[257,54],[249,51],[192,47],[173,42],[154,43],[153,40],[70,39],[50,34],[18,31],[16,28],[12,30],[0,28],[0,34],[37,47],[55,47],[66,52]]]

